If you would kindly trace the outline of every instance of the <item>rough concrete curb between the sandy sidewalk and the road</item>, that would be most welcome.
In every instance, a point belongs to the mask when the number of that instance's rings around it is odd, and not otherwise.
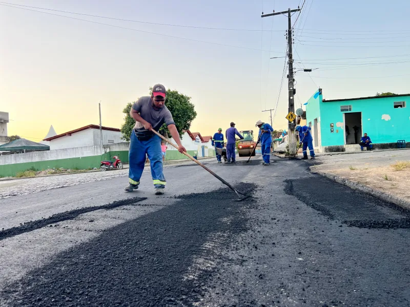
[[[365,185],[362,185],[358,182],[354,182],[354,181],[342,178],[342,177],[334,175],[334,174],[326,173],[326,172],[323,172],[323,171],[320,171],[320,170],[316,171],[316,170],[313,170],[311,167],[310,167],[310,169],[311,169],[312,173],[316,173],[316,174],[319,174],[320,176],[323,176],[325,178],[329,178],[330,180],[333,180],[333,181],[335,181],[335,182],[337,182],[341,185],[344,185],[346,187],[349,187],[353,190],[357,190],[357,191],[360,191],[360,192],[375,196],[376,198],[381,199],[385,202],[393,203],[393,204],[396,204],[399,207],[410,210],[410,202],[406,202],[405,200],[402,200],[402,199],[398,198],[397,196],[386,194],[386,193],[383,193],[383,192],[378,191],[378,190],[374,190],[374,189],[372,189],[370,187],[367,187]]]

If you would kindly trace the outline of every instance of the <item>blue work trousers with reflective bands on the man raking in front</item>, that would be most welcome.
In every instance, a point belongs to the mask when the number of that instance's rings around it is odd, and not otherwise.
[[[139,185],[142,171],[144,170],[146,155],[150,159],[151,176],[156,188],[165,188],[167,181],[162,173],[162,151],[161,139],[153,136],[147,141],[140,141],[134,131],[131,133],[129,152],[129,181],[131,184]]]

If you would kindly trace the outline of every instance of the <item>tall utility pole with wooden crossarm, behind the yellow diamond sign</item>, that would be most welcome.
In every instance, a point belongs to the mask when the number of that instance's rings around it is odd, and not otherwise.
[[[299,7],[296,10],[291,10],[290,8],[287,11],[283,11],[283,12],[278,12],[275,13],[275,11],[273,11],[273,13],[271,14],[264,14],[262,12],[261,17],[269,17],[269,16],[275,16],[275,15],[285,15],[286,13],[288,13],[288,31],[286,31],[286,36],[288,38],[288,65],[289,65],[289,74],[288,74],[288,90],[289,90],[289,107],[288,107],[288,112],[295,112],[295,101],[294,101],[294,95],[296,93],[295,90],[295,80],[294,80],[294,72],[293,72],[293,54],[292,54],[292,21],[291,21],[291,17],[292,17],[292,13],[294,12],[299,12],[300,9]],[[296,156],[296,150],[297,150],[297,146],[296,146],[296,137],[295,137],[295,121],[290,122],[288,124],[288,131],[289,131],[289,155],[290,157],[295,157]]]

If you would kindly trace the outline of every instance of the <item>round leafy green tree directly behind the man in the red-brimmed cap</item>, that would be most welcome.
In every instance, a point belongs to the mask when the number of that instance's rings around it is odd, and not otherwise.
[[[152,87],[150,87],[150,96],[152,94]],[[122,110],[126,114],[124,124],[121,126],[122,139],[129,142],[131,131],[135,125],[135,120],[130,116],[130,111],[133,103],[128,103]],[[191,127],[192,121],[195,119],[197,113],[195,106],[191,103],[191,97],[181,94],[178,91],[167,90],[167,97],[165,105],[172,114],[175,126],[178,130],[179,136],[183,134],[183,130],[188,130]],[[169,134],[166,124],[163,124],[159,129],[159,133],[165,135]]]

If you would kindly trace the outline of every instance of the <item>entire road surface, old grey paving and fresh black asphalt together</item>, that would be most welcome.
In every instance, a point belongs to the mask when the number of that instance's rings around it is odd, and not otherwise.
[[[0,200],[0,306],[410,305],[408,213],[275,161]]]

